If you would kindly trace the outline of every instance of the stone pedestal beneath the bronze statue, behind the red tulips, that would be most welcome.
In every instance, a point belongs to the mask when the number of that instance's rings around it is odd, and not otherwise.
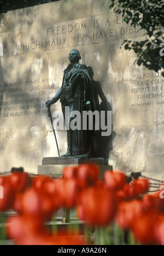
[[[83,163],[95,163],[100,168],[99,178],[103,179],[106,170],[112,170],[112,166],[104,164],[104,158],[78,158],[78,157],[44,157],[42,166],[38,166],[38,174],[45,174],[54,178],[62,177],[62,171],[65,166],[79,166]]]

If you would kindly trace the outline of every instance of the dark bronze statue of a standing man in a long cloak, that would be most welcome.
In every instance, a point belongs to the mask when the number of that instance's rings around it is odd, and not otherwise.
[[[77,49],[71,50],[68,59],[70,64],[64,71],[62,86],[51,99],[46,101],[46,106],[56,103],[59,99],[62,106],[63,117],[67,126],[71,122],[71,112],[81,113],[81,129],[67,129],[67,152],[63,156],[86,156],[93,152],[93,130],[83,129],[83,111],[86,110],[86,102],[90,103],[90,110],[95,111],[95,101],[93,99],[91,78],[87,67],[79,63],[81,59]],[[66,120],[66,107],[69,107],[69,119]]]

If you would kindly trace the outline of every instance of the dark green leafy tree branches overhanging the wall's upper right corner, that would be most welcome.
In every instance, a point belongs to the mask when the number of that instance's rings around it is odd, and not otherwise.
[[[143,41],[123,41],[126,50],[134,50],[137,64],[151,70],[164,68],[164,56],[160,56],[160,44],[164,42],[164,0],[111,0],[109,8],[122,15],[124,21],[145,30]]]

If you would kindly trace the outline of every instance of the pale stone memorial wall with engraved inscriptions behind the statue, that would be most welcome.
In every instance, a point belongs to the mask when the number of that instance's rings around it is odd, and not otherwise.
[[[0,15],[1,172],[22,166],[37,173],[43,157],[58,156],[45,102],[60,88],[75,48],[112,109],[112,133],[96,139],[97,154],[113,169],[162,179],[164,78],[120,48],[125,38],[142,40],[144,31],[127,25],[109,5],[62,0]],[[54,111],[60,115],[59,101]],[[56,130],[56,137],[65,153],[66,130]]]

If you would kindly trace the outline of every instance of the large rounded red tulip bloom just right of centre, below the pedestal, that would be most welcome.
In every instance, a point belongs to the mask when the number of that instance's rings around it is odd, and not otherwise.
[[[78,217],[91,225],[108,225],[116,212],[114,191],[104,186],[92,186],[83,190],[79,196]]]

